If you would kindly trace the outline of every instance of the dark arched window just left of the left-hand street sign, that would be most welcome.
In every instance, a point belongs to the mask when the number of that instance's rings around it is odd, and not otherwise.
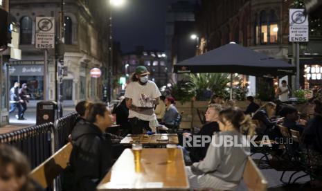
[[[33,39],[33,20],[30,17],[22,17],[20,24],[20,44],[31,44]]]

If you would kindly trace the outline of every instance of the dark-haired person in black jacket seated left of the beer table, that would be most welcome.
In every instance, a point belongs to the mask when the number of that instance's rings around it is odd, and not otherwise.
[[[104,134],[113,123],[111,112],[102,103],[90,104],[87,111],[87,121],[78,122],[71,133],[73,190],[96,190],[112,165],[111,138]]]

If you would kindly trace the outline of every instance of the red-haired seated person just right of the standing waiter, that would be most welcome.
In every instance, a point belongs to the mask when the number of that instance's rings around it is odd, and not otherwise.
[[[175,107],[175,99],[172,97],[168,97],[165,100],[165,104],[166,104],[166,113],[162,118],[162,123],[166,126],[173,125],[175,122],[175,119],[179,115],[179,112]]]

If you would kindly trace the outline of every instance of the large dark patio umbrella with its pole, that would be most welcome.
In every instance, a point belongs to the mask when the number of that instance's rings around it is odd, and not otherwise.
[[[287,62],[258,53],[235,42],[175,64],[175,73],[231,73],[231,78],[232,73],[273,77],[293,75],[295,71],[296,67]]]

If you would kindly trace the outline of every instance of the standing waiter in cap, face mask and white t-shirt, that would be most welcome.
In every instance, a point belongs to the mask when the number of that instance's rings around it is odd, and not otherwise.
[[[154,105],[159,104],[161,93],[156,84],[148,80],[149,74],[145,66],[137,66],[132,82],[125,89],[132,134],[142,134],[143,128],[151,131],[157,122]]]

